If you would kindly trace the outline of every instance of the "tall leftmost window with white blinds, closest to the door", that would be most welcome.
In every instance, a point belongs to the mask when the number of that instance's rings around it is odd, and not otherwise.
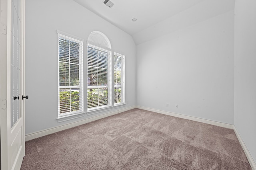
[[[58,117],[83,112],[83,41],[58,33]]]

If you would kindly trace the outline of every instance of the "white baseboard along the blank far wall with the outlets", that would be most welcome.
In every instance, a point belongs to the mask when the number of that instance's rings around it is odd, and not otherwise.
[[[217,122],[217,121],[211,121],[211,120],[206,120],[206,119],[201,119],[201,118],[197,118],[197,117],[181,115],[181,114],[178,114],[178,113],[172,113],[172,112],[168,112],[168,111],[157,110],[157,109],[152,109],[152,108],[142,107],[142,106],[136,106],[136,108],[143,109],[143,110],[148,110],[148,111],[153,111],[153,112],[156,112],[156,113],[162,113],[164,115],[180,117],[180,118],[188,119],[188,120],[192,120],[192,121],[207,123],[207,124],[210,124],[210,125],[226,127],[228,129],[233,129],[233,125],[230,125],[230,124],[227,124],[227,123],[221,123],[221,122]]]

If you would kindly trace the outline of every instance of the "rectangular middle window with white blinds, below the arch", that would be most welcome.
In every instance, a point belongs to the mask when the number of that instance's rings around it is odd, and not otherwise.
[[[112,106],[111,50],[88,43],[87,107],[88,111]]]

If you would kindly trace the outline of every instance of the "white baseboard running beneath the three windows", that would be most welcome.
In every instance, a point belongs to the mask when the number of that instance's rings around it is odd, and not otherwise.
[[[122,113],[124,111],[128,111],[130,109],[135,109],[135,108],[136,108],[135,106],[127,107],[127,108],[120,109],[120,110],[117,110],[117,111],[112,111],[110,113],[106,113],[106,114],[103,114],[103,115],[90,117],[88,119],[84,119],[84,120],[81,120],[81,121],[76,121],[76,122],[73,122],[73,123],[69,123],[69,124],[66,124],[66,125],[58,126],[58,127],[53,127],[53,128],[46,129],[46,130],[39,131],[39,132],[35,132],[35,133],[30,133],[30,134],[25,136],[25,141],[29,141],[29,140],[32,140],[32,139],[36,139],[38,137],[42,137],[42,136],[45,136],[45,135],[56,133],[58,131],[63,131],[65,129],[69,129],[69,128],[76,127],[76,126],[79,126],[79,125],[83,125],[83,124],[89,123],[91,121],[102,119],[104,117],[108,117],[108,116],[111,116],[111,115],[116,115],[118,113]]]

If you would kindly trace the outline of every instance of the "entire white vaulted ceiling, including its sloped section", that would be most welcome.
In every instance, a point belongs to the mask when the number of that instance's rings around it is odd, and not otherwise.
[[[74,0],[132,35],[136,44],[181,26],[234,10],[235,0]],[[136,21],[132,21],[136,18]],[[168,24],[166,24],[168,23]],[[149,33],[152,35],[149,35]]]

